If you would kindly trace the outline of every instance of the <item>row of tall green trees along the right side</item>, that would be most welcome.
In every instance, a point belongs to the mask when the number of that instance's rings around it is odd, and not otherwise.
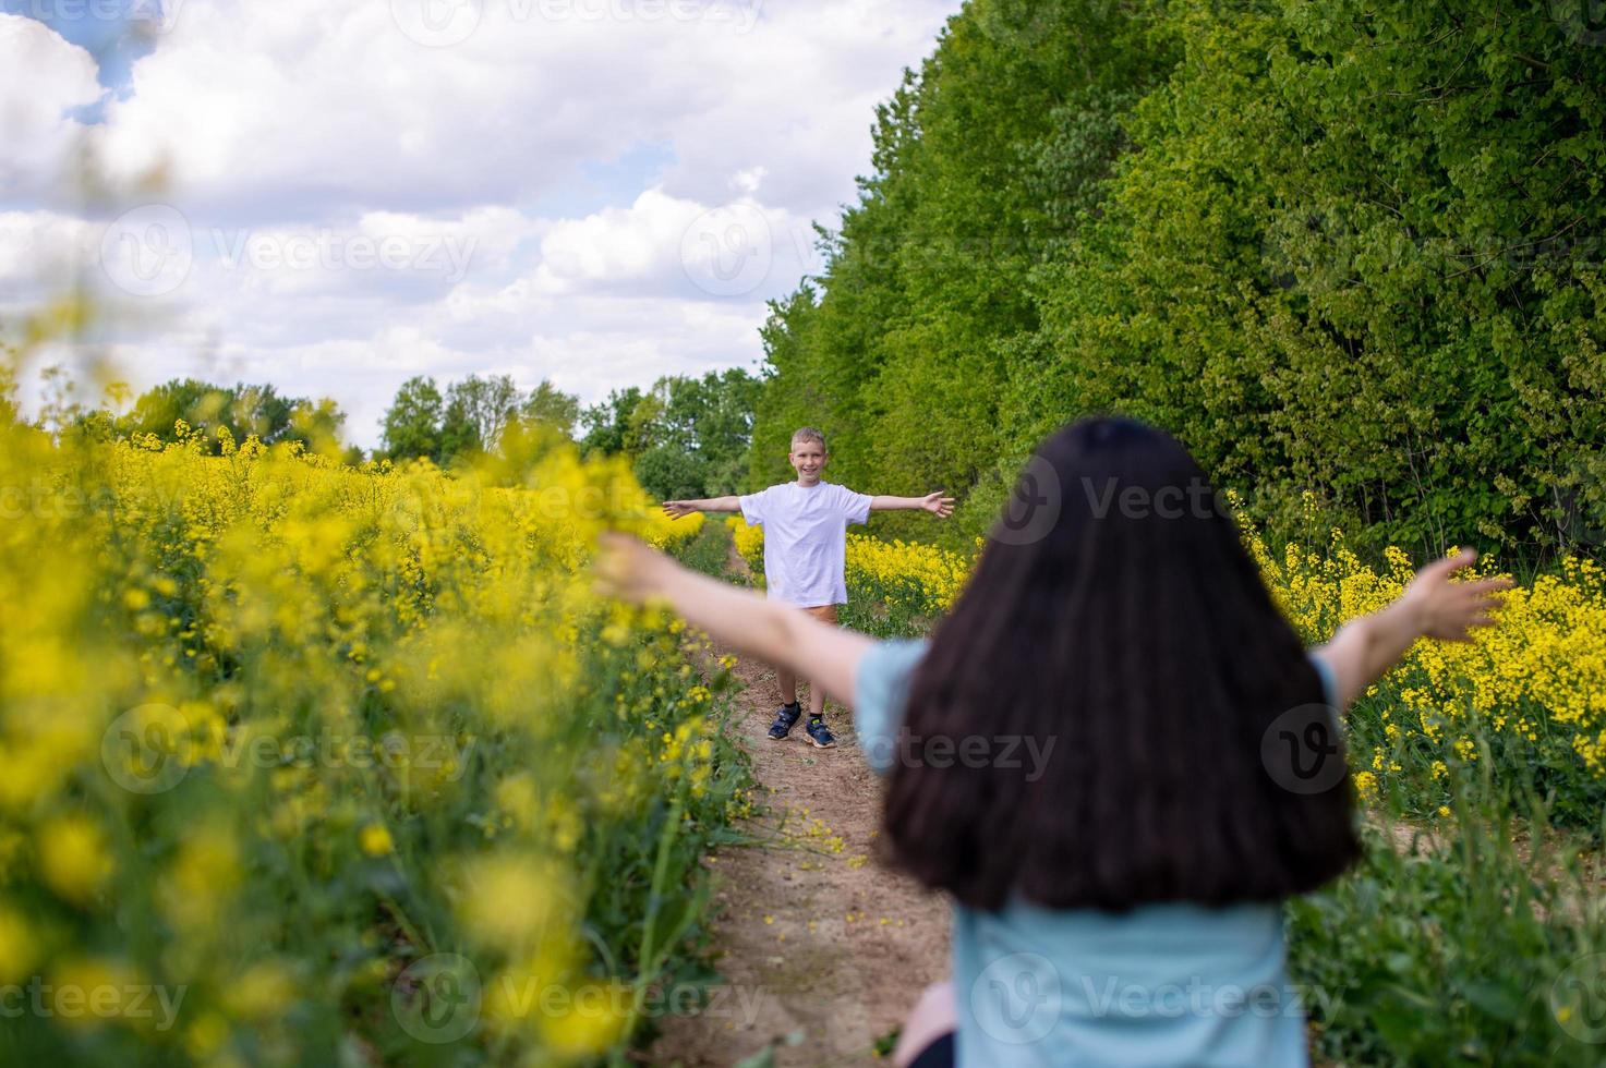
[[[1598,546],[1606,34],[1580,5],[972,0],[764,329],[750,485],[948,488],[1176,432],[1275,532]],[[911,530],[909,533],[915,533]]]

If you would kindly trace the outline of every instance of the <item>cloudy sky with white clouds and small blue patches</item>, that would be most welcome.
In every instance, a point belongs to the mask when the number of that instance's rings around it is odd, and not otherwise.
[[[413,374],[755,368],[959,6],[0,0],[0,320],[87,278],[137,389],[329,395],[365,446]]]

